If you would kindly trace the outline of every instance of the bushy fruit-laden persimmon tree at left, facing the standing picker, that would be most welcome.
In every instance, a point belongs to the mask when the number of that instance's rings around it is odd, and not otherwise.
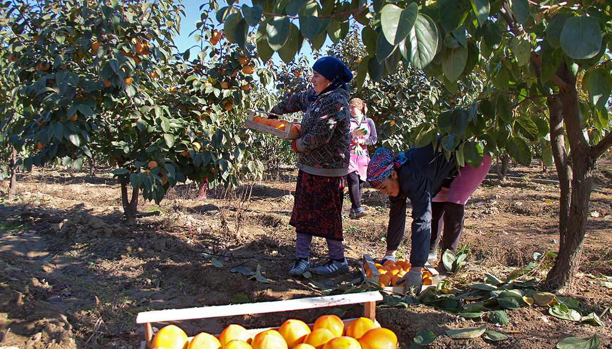
[[[129,224],[140,193],[159,203],[187,179],[231,185],[245,173],[261,175],[248,144],[221,127],[223,117],[243,106],[248,90],[240,87],[253,80],[252,68],[230,78],[219,62],[177,61],[171,52],[181,4],[1,6],[8,15],[0,50],[10,62],[2,73],[14,82],[10,93],[20,106],[7,136],[18,151],[34,150],[23,159],[26,168],[60,159],[80,169],[87,158],[105,155],[119,166],[113,173]],[[237,68],[232,54],[220,61]]]

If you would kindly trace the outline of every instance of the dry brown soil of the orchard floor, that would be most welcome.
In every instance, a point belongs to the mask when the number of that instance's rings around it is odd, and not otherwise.
[[[423,304],[407,308],[378,307],[379,323],[409,346],[419,331],[437,337],[429,348],[553,348],[565,337],[597,333],[611,348],[612,293],[589,276],[612,274],[612,163],[600,161],[591,194],[591,217],[575,290],[583,315],[595,312],[604,326],[561,320],[548,309],[523,306],[507,310],[510,334],[501,342],[478,337],[450,339],[447,329],[480,326]],[[556,179],[540,167],[510,167],[515,177]],[[140,347],[143,328],[138,312],[341,293],[360,284],[360,260],[384,255],[389,200],[366,185],[362,204],[370,214],[349,219],[345,200],[345,246],[350,273],[325,279],[291,278],[295,235],[289,226],[296,171],[286,169],[265,181],[241,183],[236,191],[217,190],[215,199],[193,200],[195,183],[171,190],[160,206],[139,203],[135,227],[125,226],[119,185],[108,172],[95,177],[69,170],[18,177],[15,200],[6,199],[8,182],[0,183],[0,345],[18,348]],[[559,188],[531,182],[501,182],[493,169],[466,205],[460,249],[468,265],[450,277],[452,284],[482,282],[484,272],[505,277],[526,265],[534,253],[558,251]],[[406,226],[409,227],[409,222]],[[400,251],[409,251],[409,233]],[[313,241],[315,262],[326,259],[322,239]],[[217,260],[223,266],[215,266]],[[230,270],[263,266],[268,283]],[[536,286],[539,287],[539,286]],[[327,290],[327,291],[326,291]],[[287,318],[307,323],[331,309],[276,314],[249,314],[180,321],[189,336],[218,333],[230,323],[247,328],[278,326]],[[362,314],[359,306],[345,318]],[[163,323],[156,323],[161,328]]]

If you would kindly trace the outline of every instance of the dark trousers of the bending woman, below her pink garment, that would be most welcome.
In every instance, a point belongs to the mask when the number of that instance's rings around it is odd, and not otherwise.
[[[431,202],[431,240],[429,252],[435,253],[441,242],[442,253],[447,249],[457,252],[461,231],[463,230],[463,214],[465,206],[454,202]],[[444,234],[442,234],[444,230]],[[440,241],[442,237],[442,241]]]

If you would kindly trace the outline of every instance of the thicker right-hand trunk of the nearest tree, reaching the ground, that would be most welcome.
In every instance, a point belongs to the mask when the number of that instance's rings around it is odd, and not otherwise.
[[[559,253],[553,268],[547,274],[546,283],[550,288],[572,290],[575,274],[578,273],[582,262],[593,169],[597,158],[592,156],[592,149],[582,131],[578,114],[576,77],[564,62],[557,70],[557,75],[566,84],[563,88],[559,88],[559,100],[561,100],[563,121],[572,153],[572,180],[566,228],[563,232],[559,229]],[[559,183],[561,183],[561,174],[559,174]],[[560,228],[562,219],[559,215]]]

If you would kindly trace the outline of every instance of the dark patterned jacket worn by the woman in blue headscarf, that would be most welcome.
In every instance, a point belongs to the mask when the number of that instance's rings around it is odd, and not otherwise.
[[[350,95],[345,89],[321,94],[315,101],[308,97],[314,90],[300,92],[278,103],[280,114],[303,111],[302,137],[297,139],[297,168],[313,175],[340,177],[348,173],[350,159],[348,111]]]

